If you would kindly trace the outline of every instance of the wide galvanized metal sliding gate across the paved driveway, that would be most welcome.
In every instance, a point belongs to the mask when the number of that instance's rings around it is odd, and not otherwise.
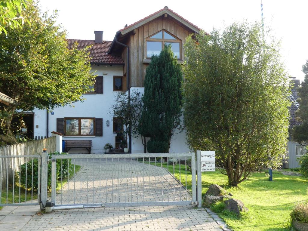
[[[193,152],[52,155],[51,206],[197,205],[195,161]]]

